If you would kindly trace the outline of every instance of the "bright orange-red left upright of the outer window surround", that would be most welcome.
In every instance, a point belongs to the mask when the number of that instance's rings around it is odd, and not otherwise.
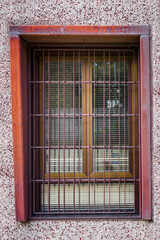
[[[11,94],[12,94],[12,129],[15,181],[15,205],[17,221],[27,220],[27,185],[26,185],[26,128],[24,126],[24,75],[22,74],[20,37],[10,38],[11,58]],[[25,68],[24,68],[25,69]],[[23,71],[24,71],[23,69]],[[26,117],[26,116],[25,116]]]

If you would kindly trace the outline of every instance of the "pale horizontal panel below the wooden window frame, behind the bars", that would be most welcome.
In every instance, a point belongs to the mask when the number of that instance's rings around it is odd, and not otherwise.
[[[80,190],[80,191],[79,191]],[[65,196],[64,196],[64,185],[60,184],[60,211],[64,211],[64,200],[65,200],[65,211],[73,211],[73,192],[75,191],[75,211],[86,211],[90,206],[90,210],[111,212],[117,210],[123,210],[124,206],[126,211],[134,209],[134,184],[133,183],[93,183],[90,184],[90,190],[88,191],[88,184],[65,184]],[[80,193],[80,195],[79,195]],[[44,209],[48,210],[48,185],[44,187]],[[105,197],[104,197],[105,195]],[[80,197],[79,197],[80,196]],[[41,187],[41,199],[43,199],[43,187]],[[90,199],[90,204],[89,204]],[[95,199],[95,203],[94,203]],[[105,199],[105,203],[104,203]],[[43,201],[42,201],[43,202]],[[41,206],[42,207],[42,206]],[[50,210],[58,211],[58,185],[50,185]]]

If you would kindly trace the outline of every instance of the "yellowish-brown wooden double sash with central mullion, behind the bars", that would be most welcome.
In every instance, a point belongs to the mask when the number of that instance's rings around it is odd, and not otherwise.
[[[42,61],[43,59],[41,58],[40,61],[39,61],[39,66],[40,66],[40,82],[42,82]],[[47,60],[47,57],[44,57],[44,61]],[[108,57],[106,57],[106,62],[108,61]],[[120,62],[122,60],[122,57],[120,59]],[[136,58],[135,58],[136,60]],[[51,57],[50,58],[50,61],[56,61],[56,58],[54,57]],[[78,61],[78,59],[77,59]],[[101,62],[102,59],[101,57],[96,57],[96,62]],[[63,58],[60,58],[60,62],[63,62]],[[69,57],[66,57],[65,58],[65,62],[66,63],[72,63],[72,58],[69,58]],[[110,59],[110,62],[113,63],[113,62],[118,62],[118,58],[117,57],[113,57]],[[126,62],[128,62],[128,66],[129,66],[129,74],[130,74],[130,78],[131,80],[133,81],[137,81],[137,61],[135,61],[135,64],[133,63],[133,57],[132,58],[128,58],[126,57]],[[88,63],[88,59],[87,57],[86,58],[81,58],[81,64],[82,64],[82,113],[83,114],[92,114],[92,83],[91,82],[91,79],[92,79],[92,64],[93,64],[93,57],[90,57],[90,63]],[[135,72],[135,74],[134,74]],[[135,75],[135,76],[134,76]],[[86,83],[85,83],[86,82]],[[43,86],[42,84],[40,84],[40,99],[42,99],[42,92],[43,92]],[[130,88],[130,92],[131,92],[131,95],[129,95],[129,108],[131,111],[130,113],[134,113],[134,112],[137,112],[137,99],[138,99],[138,92],[137,90],[135,91],[134,90],[134,86],[130,84],[128,84],[128,88]],[[90,89],[90,93],[89,93],[89,89]],[[89,100],[89,96],[90,96],[90,100]],[[134,100],[136,99],[136,100]],[[89,107],[89,102],[90,102],[90,107]],[[42,101],[40,101],[40,108],[42,108]],[[135,105],[135,106],[134,106]],[[89,112],[89,109],[90,109],[90,112]],[[41,119],[41,118],[40,118]],[[137,119],[138,120],[138,119]],[[40,120],[41,123],[40,123],[40,142],[42,145],[42,142],[43,142],[43,139],[42,139],[42,119]],[[137,126],[137,121],[135,122],[136,126]],[[82,146],[92,146],[92,116],[82,116],[82,126],[83,126],[83,145]],[[89,126],[90,126],[90,130],[89,130]],[[134,131],[134,117],[131,117],[131,122],[129,123],[129,132],[130,132],[130,135],[132,136],[132,138],[130,137],[129,138],[129,145],[132,146],[132,143],[134,145],[134,133],[136,133],[136,139],[138,138],[138,134],[137,132]],[[137,141],[136,141],[137,142]],[[83,148],[82,152],[83,152],[83,172],[80,172],[80,177],[81,178],[88,178],[88,176],[90,176],[90,178],[103,178],[103,172],[94,172],[93,170],[93,152],[92,152],[92,149],[93,148]],[[134,176],[134,161],[136,159],[136,156],[134,156],[134,153],[135,150],[134,149],[129,149],[129,171],[125,171],[125,172],[105,172],[105,178],[117,178],[117,177],[120,177],[120,178],[123,178],[124,176],[125,177],[133,177]],[[42,159],[43,158],[43,152],[40,151],[40,158]],[[130,164],[131,163],[131,164]],[[42,160],[41,160],[41,176],[43,175],[43,166],[42,166]],[[89,174],[90,172],[90,174]],[[74,173],[68,173],[68,172],[65,172],[65,178],[70,178],[70,179],[73,179],[73,174]],[[48,173],[45,173],[45,178],[47,179],[49,176],[48,176]],[[53,178],[53,179],[57,179],[58,178],[58,173],[50,173],[50,178]],[[64,178],[64,173],[60,173],[60,178]],[[75,178],[79,178],[79,173],[78,172],[75,172]]]

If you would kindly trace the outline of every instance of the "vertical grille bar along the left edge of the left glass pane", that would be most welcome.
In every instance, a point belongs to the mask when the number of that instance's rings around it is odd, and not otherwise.
[[[48,212],[50,212],[50,107],[51,107],[51,98],[50,98],[50,51],[48,51]]]

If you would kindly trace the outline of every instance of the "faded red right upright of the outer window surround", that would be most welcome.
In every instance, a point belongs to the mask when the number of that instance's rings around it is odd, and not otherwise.
[[[151,219],[151,125],[149,36],[140,38],[142,218]]]

